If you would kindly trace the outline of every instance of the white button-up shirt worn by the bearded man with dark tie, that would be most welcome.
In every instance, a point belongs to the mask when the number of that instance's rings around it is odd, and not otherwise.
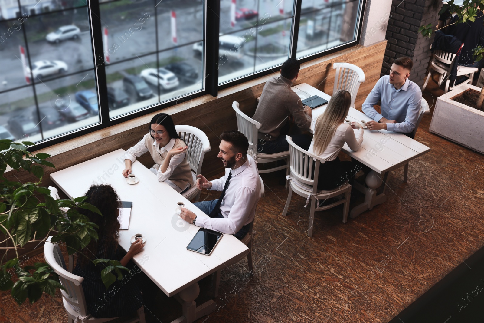
[[[237,169],[225,170],[225,175],[213,180],[212,191],[223,191],[228,173],[232,171],[224,200],[220,206],[223,218],[197,216],[195,224],[199,227],[235,234],[242,226],[249,224],[256,215],[257,202],[260,199],[260,180],[254,158],[247,155],[245,163]]]

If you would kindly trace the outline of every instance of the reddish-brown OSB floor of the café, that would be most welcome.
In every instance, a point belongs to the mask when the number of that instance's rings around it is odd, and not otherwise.
[[[429,87],[424,98],[433,106],[443,91]],[[312,238],[304,233],[305,200],[293,194],[283,217],[287,191],[274,174],[263,174],[257,274],[245,278],[245,260],[224,270],[219,311],[197,322],[388,322],[482,247],[483,155],[429,133],[430,120],[424,116],[415,139],[431,151],[410,162],[408,183],[403,168],[392,172],[387,202],[346,224],[342,207],[318,212]],[[59,293],[21,307],[7,292],[0,297],[0,322],[67,320]],[[176,317],[167,315],[162,322]]]

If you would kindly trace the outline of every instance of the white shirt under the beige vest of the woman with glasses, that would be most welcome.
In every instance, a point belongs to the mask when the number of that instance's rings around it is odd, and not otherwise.
[[[146,136],[150,136],[150,134],[146,134],[145,137]],[[122,155],[121,159],[129,159],[132,162],[135,162],[136,157],[139,157],[142,154],[148,152],[148,148],[146,148],[145,146],[145,137],[143,137],[143,139],[141,139],[136,144],[136,146],[128,149],[126,153]],[[164,154],[165,152],[169,152],[171,149],[173,149],[173,146],[175,145],[175,140],[175,138],[171,138],[171,140],[168,141],[165,147],[160,147],[160,144],[156,143],[156,141],[153,141],[153,146],[155,146],[156,151],[158,151],[160,154]],[[168,165],[168,168],[165,170],[165,172],[161,171],[161,167],[158,169],[158,172],[156,174],[158,181],[165,182],[168,178],[170,178],[173,170],[177,168],[178,165],[180,165],[184,158],[185,153],[177,154],[171,157],[170,164]]]

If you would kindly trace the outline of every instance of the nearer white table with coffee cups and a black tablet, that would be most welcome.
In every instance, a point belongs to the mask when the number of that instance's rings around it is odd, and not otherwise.
[[[84,196],[92,184],[109,184],[123,201],[133,201],[129,230],[121,230],[119,244],[124,250],[131,246],[135,233],[146,236],[142,252],[133,261],[168,296],[176,296],[182,303],[183,316],[177,323],[191,323],[214,311],[210,300],[198,307],[197,281],[226,267],[247,254],[248,248],[231,234],[224,237],[212,255],[205,256],[186,249],[199,227],[191,225],[176,214],[177,202],[198,216],[208,216],[186,200],[169,185],[157,181],[156,176],[139,162],[133,163],[133,174],[139,183],[129,185],[122,176],[124,150],[99,156],[87,162],[50,174],[52,180],[70,198]]]

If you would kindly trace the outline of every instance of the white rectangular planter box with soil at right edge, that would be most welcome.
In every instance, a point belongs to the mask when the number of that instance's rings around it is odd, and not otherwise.
[[[452,100],[460,93],[481,88],[463,84],[437,98],[430,132],[484,154],[484,112]]]

